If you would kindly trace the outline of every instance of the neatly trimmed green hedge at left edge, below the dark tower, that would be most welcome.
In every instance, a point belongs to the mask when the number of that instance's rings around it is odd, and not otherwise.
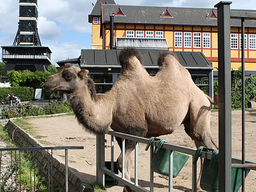
[[[31,101],[34,98],[35,90],[32,87],[0,87],[0,101],[11,94],[16,94],[20,101]]]

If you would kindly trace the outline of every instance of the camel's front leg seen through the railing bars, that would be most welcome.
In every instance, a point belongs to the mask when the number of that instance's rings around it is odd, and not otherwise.
[[[139,128],[130,128],[126,131],[127,134],[131,134],[133,136],[139,136],[139,137],[145,137],[147,134],[147,129],[139,129]],[[119,147],[122,151],[122,138],[116,137],[116,140],[118,141]],[[130,180],[130,169],[131,169],[131,152],[135,148],[135,142],[126,140],[125,142],[125,178]],[[118,169],[120,172],[122,172],[122,152],[119,155],[116,165],[118,166]],[[129,186],[125,186],[123,191],[134,191]]]

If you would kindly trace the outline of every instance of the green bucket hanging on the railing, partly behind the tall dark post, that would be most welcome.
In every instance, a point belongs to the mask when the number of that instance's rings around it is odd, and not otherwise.
[[[202,150],[212,151],[212,159],[204,159],[200,187],[205,191],[219,191],[219,151],[200,146],[195,152],[195,161],[193,163],[197,162]],[[241,168],[232,168],[232,191],[236,192],[241,187],[241,172]],[[250,169],[246,169],[246,176],[249,172]]]

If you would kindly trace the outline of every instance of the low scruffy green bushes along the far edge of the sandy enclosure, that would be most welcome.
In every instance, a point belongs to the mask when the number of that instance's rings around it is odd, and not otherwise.
[[[30,104],[22,104],[17,107],[10,107],[2,110],[1,118],[19,118],[24,116],[51,115],[56,113],[71,112],[69,102],[52,102],[51,105],[46,105],[44,108],[33,106]]]

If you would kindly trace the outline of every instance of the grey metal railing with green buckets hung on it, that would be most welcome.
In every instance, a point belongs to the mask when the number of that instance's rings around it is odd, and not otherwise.
[[[137,136],[131,136],[129,134],[125,133],[119,133],[116,131],[108,131],[108,134],[111,135],[111,169],[107,169],[105,167],[105,136],[97,135],[96,137],[96,143],[97,143],[97,183],[101,183],[105,185],[105,176],[104,174],[107,174],[113,179],[116,179],[118,181],[122,181],[125,183],[127,186],[131,187],[131,189],[137,190],[137,191],[148,191],[144,187],[141,187],[138,185],[138,143],[144,143],[148,144],[149,139],[148,138],[143,138],[143,137],[137,137]],[[118,175],[117,173],[114,172],[114,159],[113,159],[113,154],[114,154],[114,138],[113,137],[119,137],[122,138],[122,175]],[[134,150],[134,182],[131,182],[130,180],[125,178],[125,140],[131,140],[136,142],[135,150]],[[154,146],[158,146],[158,141],[153,141],[151,146],[150,146],[150,159],[152,159],[152,154],[154,150]],[[163,143],[162,148],[170,150],[170,156],[169,156],[169,191],[172,191],[172,151],[178,151],[182,152],[184,154],[188,154],[192,156],[192,159],[194,161],[194,156],[195,156],[195,149],[194,148],[189,148],[189,147],[183,147],[179,145],[173,145],[169,143]],[[211,152],[204,152],[202,151],[200,157],[206,158],[206,159],[211,159],[212,153]],[[238,158],[232,158],[232,166],[236,167],[237,164],[241,163],[241,159]],[[250,163],[251,166],[248,169],[251,170],[256,170],[256,162],[253,161],[246,161],[246,163]],[[197,163],[192,165],[192,191],[196,191],[196,184],[197,184]],[[152,168],[150,167],[150,191],[154,191],[154,172],[152,171]]]

